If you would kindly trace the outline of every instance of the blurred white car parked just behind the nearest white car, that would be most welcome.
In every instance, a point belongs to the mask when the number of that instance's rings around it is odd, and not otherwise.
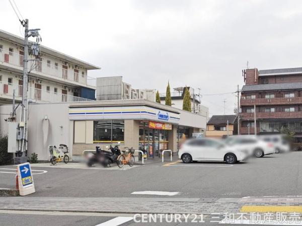
[[[224,143],[233,149],[245,149],[250,156],[257,158],[275,153],[271,141],[264,141],[255,135],[230,136],[224,139]]]

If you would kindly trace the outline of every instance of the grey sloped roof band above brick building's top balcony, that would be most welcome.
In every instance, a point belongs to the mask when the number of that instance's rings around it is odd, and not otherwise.
[[[302,89],[302,83],[274,83],[261,85],[245,85],[241,92],[249,91],[269,91],[269,90],[296,90]]]

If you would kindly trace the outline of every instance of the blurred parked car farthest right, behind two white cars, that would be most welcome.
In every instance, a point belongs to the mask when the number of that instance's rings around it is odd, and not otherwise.
[[[288,153],[290,152],[290,143],[286,140],[283,134],[276,135],[261,135],[260,139],[266,142],[272,142],[274,145],[275,153]]]

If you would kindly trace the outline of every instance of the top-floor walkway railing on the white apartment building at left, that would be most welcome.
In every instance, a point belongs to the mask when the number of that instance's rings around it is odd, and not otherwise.
[[[33,58],[31,58],[33,59]],[[8,63],[14,66],[23,67],[24,66],[24,56],[20,55],[15,52],[9,52],[5,49],[0,49],[0,63]],[[59,67],[58,65],[43,62],[43,61],[29,61],[29,68],[33,67],[33,71],[36,71],[37,73],[44,73],[48,74],[50,76],[54,76],[57,78],[63,78],[64,80],[70,81],[70,82],[78,82],[84,85],[93,86],[92,84],[96,84],[95,78],[89,78],[87,77],[87,80],[84,78],[79,78],[78,75],[74,74],[73,70],[65,69],[62,67]],[[21,68],[20,68],[21,69]],[[23,68],[22,68],[23,69]],[[90,81],[88,81],[90,80]],[[95,80],[95,81],[92,81]]]

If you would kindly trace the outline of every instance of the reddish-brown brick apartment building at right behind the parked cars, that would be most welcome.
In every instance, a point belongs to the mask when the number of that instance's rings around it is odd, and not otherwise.
[[[243,70],[241,90],[241,134],[254,134],[254,105],[257,134],[295,132],[302,142],[302,67]]]

